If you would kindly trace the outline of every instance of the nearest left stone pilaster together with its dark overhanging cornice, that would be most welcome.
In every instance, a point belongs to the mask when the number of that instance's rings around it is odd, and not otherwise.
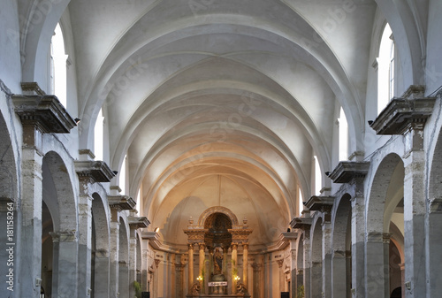
[[[34,84],[36,88],[38,86]],[[23,92],[27,93],[25,87]],[[17,253],[20,267],[16,274],[20,282],[16,293],[21,297],[36,298],[40,295],[42,267],[42,134],[67,134],[75,122],[56,96],[40,92],[36,95],[14,95],[11,99],[23,126],[22,224]]]

